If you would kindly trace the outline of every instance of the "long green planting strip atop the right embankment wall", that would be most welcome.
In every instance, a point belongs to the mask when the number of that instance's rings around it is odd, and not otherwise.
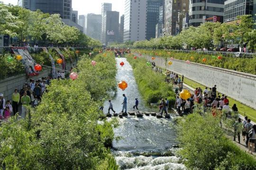
[[[160,56],[164,58],[181,59],[181,60],[190,60],[191,62],[205,64],[209,66],[226,68],[230,70],[245,72],[249,74],[256,75],[256,57],[254,58],[234,58],[230,56],[221,56],[221,59],[218,59],[218,55],[209,55],[209,54],[200,54],[197,52],[184,53],[176,51],[166,51],[166,50],[135,50],[138,53],[145,53],[152,56]],[[191,57],[193,57],[191,59]],[[206,59],[206,62],[203,59]]]

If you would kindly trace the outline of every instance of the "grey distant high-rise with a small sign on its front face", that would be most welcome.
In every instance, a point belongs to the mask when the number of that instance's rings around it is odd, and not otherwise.
[[[111,42],[118,42],[119,39],[119,12],[105,11],[102,43],[109,45]]]

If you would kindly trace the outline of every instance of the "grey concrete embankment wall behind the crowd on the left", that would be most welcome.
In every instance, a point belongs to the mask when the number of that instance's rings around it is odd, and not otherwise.
[[[75,63],[66,64],[66,69],[70,70],[70,68],[73,66],[73,64],[75,64]],[[59,65],[56,65],[55,67],[56,68],[62,68],[62,66],[60,67]],[[58,69],[56,69],[56,73],[57,73],[57,71],[58,71]],[[51,68],[44,68],[39,73],[38,76],[27,77],[26,74],[22,74],[22,75],[19,75],[19,76],[12,76],[12,77],[8,77],[6,79],[0,80],[0,93],[2,93],[4,95],[4,98],[6,100],[11,100],[11,95],[14,92],[15,88],[20,90],[26,82],[29,83],[29,79],[32,78],[36,81],[39,78],[49,76],[50,72],[51,72]]]

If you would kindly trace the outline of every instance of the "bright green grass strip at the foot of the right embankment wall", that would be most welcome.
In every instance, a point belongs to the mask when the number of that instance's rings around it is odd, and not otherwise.
[[[183,82],[189,86],[191,86],[192,88],[196,88],[196,87],[201,87],[201,89],[205,89],[204,85],[201,85],[200,83],[197,83],[195,81],[192,81],[191,79],[188,79],[186,77],[184,77]],[[221,93],[220,93],[221,95]],[[234,99],[229,98],[229,105],[232,107],[234,103],[237,104],[238,107],[238,111],[240,112],[240,114],[242,116],[247,116],[248,119],[251,119],[252,121],[256,122],[256,110],[244,105],[243,103],[240,103]]]

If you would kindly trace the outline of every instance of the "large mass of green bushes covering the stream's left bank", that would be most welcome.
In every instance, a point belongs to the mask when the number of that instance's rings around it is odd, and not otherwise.
[[[115,59],[108,53],[94,60],[95,67],[83,55],[78,79],[53,80],[26,119],[1,124],[0,169],[117,170],[106,148],[116,121],[97,123],[100,99],[116,89]]]

